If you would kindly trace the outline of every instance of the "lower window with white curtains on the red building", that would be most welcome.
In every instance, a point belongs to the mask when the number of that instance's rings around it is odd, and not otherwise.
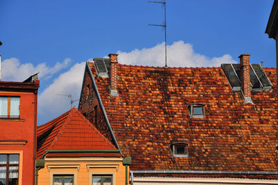
[[[0,154],[0,184],[18,185],[19,154]]]

